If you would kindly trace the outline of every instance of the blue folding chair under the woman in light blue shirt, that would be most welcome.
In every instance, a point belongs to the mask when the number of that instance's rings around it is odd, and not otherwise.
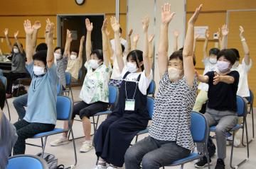
[[[77,164],[78,159],[77,159],[77,154],[76,154],[76,150],[75,150],[75,140],[74,140],[73,129],[72,129],[72,125],[71,125],[71,117],[72,117],[72,113],[73,113],[73,102],[67,96],[57,96],[56,109],[57,109],[57,120],[68,121],[68,129],[55,128],[55,129],[53,129],[53,131],[50,131],[50,132],[43,132],[40,134],[36,134],[31,139],[39,139],[40,138],[41,146],[38,146],[35,144],[28,144],[28,145],[41,147],[42,148],[42,156],[43,156],[43,153],[46,148],[46,141],[47,141],[48,136],[70,131],[71,136],[73,138],[73,148],[74,148],[74,154],[75,154],[74,166],[75,166]],[[43,137],[45,138],[44,141],[43,141]]]

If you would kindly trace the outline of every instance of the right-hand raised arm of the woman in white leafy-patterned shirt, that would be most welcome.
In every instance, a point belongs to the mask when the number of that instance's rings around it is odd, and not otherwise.
[[[103,61],[104,64],[108,67],[110,64],[109,57],[107,57],[107,34],[106,34],[106,29],[107,29],[107,18],[103,21],[102,24],[102,50],[103,50]]]

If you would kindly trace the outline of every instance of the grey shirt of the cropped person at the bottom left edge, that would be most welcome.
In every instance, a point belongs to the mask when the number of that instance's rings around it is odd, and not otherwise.
[[[6,119],[4,113],[0,119],[0,168],[6,168],[11,149],[14,147],[18,136],[13,124]]]

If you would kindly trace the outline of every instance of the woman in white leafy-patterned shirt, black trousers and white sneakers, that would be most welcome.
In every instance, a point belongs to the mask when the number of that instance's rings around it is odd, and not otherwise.
[[[80,91],[80,99],[82,101],[74,105],[73,118],[75,115],[79,115],[82,120],[82,127],[85,133],[85,142],[83,142],[80,148],[81,153],[90,151],[92,141],[90,140],[91,123],[90,117],[97,112],[104,112],[109,105],[108,100],[108,82],[110,81],[111,67],[107,57],[107,37],[105,29],[107,27],[107,21],[105,20],[102,25],[102,49],[92,50],[91,33],[92,23],[89,19],[85,20],[87,28],[86,35],[86,57],[85,68],[87,74]],[[68,122],[64,123],[64,129],[68,128]],[[63,137],[50,143],[51,146],[59,146],[61,144],[68,144],[67,138],[68,132],[63,134]]]

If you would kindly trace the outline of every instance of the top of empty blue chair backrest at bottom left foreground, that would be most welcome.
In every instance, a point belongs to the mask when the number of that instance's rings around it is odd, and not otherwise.
[[[48,169],[46,161],[38,156],[17,155],[9,158],[6,169]]]

